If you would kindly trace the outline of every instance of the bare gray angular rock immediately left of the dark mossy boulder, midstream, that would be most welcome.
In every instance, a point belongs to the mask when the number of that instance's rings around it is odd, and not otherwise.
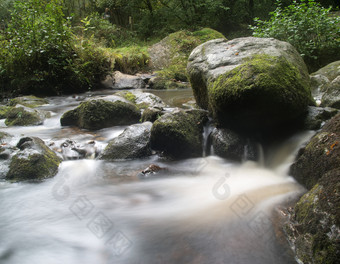
[[[150,156],[151,127],[151,122],[129,126],[109,142],[100,159],[136,159]]]

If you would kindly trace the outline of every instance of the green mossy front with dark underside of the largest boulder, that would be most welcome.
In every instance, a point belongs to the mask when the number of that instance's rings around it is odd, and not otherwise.
[[[268,130],[306,113],[309,88],[284,57],[254,55],[209,84],[209,106],[222,127]]]

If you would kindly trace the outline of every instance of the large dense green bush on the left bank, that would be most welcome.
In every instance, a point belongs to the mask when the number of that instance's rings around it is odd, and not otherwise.
[[[62,0],[16,1],[0,38],[0,86],[11,93],[58,94],[91,87],[109,69],[103,53],[74,38]]]

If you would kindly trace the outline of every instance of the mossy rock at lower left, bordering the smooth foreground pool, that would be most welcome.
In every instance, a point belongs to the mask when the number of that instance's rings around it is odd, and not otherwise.
[[[19,151],[12,157],[7,180],[42,180],[58,172],[61,159],[40,138],[21,138],[17,148]]]

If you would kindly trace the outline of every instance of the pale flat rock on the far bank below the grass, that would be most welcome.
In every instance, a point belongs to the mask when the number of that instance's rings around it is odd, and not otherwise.
[[[119,71],[116,71],[113,77],[107,76],[102,85],[111,89],[142,89],[146,86],[142,77],[124,74]]]

